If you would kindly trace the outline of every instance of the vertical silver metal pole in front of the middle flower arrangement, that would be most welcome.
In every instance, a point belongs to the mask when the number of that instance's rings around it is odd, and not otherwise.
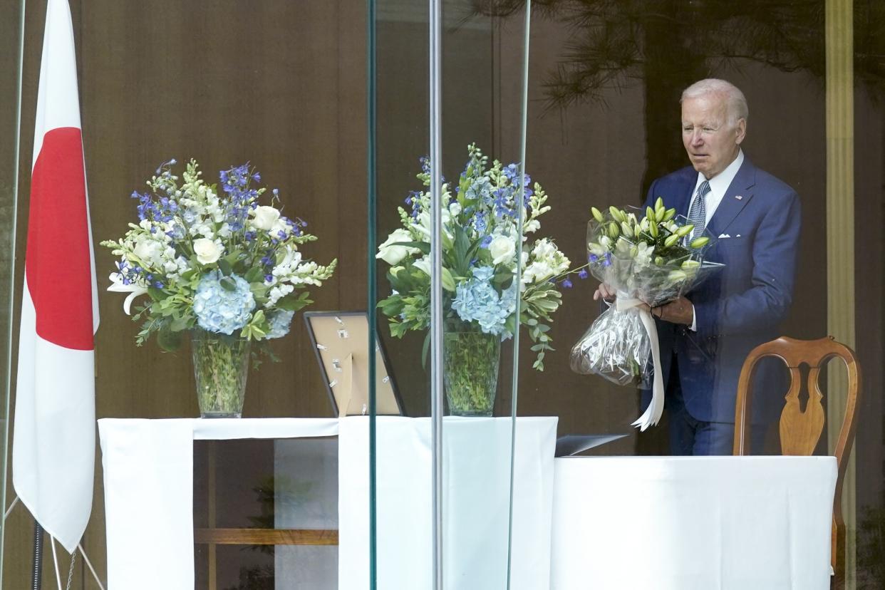
[[[430,4],[430,403],[433,438],[434,588],[443,590],[443,130],[442,2]]]

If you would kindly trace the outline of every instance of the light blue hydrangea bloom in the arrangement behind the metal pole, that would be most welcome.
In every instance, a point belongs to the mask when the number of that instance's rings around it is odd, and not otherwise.
[[[474,268],[473,279],[458,285],[451,307],[458,318],[479,324],[482,332],[506,338],[510,333],[504,329],[504,323],[516,310],[516,285],[498,295],[491,283],[494,273],[491,266]]]

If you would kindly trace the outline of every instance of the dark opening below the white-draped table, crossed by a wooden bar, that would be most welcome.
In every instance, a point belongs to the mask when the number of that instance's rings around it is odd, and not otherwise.
[[[196,587],[338,587],[338,441],[195,441]]]

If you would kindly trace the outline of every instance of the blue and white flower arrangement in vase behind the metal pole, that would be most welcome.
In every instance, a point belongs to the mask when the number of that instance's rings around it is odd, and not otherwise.
[[[552,350],[551,314],[570,287],[570,262],[549,238],[529,241],[550,211],[547,195],[519,166],[502,165],[472,144],[457,183],[443,182],[443,359],[451,413],[490,415],[497,383],[500,342],[527,326],[537,353],[534,367]],[[430,323],[430,170],[421,158],[425,190],[399,208],[402,226],[391,232],[376,257],[390,265],[392,294],[378,305],[390,333],[427,330]],[[521,196],[521,202],[519,201]],[[522,227],[519,223],[522,209]],[[517,246],[522,239],[516,283]],[[582,277],[586,272],[582,271]]]

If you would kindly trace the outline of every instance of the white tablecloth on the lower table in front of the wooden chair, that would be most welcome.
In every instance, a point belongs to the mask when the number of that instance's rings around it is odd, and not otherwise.
[[[835,457],[555,461],[552,590],[829,588]]]

